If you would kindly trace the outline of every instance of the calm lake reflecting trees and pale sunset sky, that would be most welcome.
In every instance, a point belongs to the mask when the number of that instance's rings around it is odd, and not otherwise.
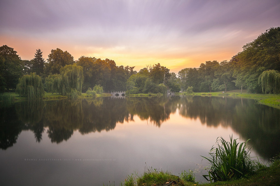
[[[0,106],[0,185],[119,185],[145,169],[194,171],[217,137],[248,139],[267,162],[280,151],[280,110],[209,96],[97,98]]]

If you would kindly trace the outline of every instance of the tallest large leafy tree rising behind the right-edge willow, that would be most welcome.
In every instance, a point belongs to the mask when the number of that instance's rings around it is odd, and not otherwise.
[[[237,85],[247,87],[250,92],[261,92],[258,78],[265,70],[280,70],[280,27],[270,28],[253,42],[247,43],[243,51],[234,56],[234,73]]]

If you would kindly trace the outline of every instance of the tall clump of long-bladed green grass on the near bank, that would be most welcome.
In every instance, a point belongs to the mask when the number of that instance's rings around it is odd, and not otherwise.
[[[218,137],[216,141],[217,147],[212,147],[209,152],[211,157],[204,157],[209,161],[208,175],[203,177],[212,182],[232,180],[252,174],[257,165],[256,161],[251,160],[251,147],[248,148],[247,142],[237,143],[237,139],[230,142],[225,141],[222,137]],[[209,178],[209,179],[208,179]]]

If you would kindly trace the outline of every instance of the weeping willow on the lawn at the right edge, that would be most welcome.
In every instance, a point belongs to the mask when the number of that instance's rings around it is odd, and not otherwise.
[[[263,71],[259,76],[263,93],[280,94],[280,73],[276,70]]]

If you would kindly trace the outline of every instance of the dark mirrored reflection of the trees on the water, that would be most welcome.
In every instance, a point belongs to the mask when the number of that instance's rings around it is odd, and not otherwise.
[[[172,96],[126,99],[83,99],[16,103],[0,108],[0,148],[16,143],[22,130],[31,130],[41,142],[47,130],[51,142],[67,141],[78,130],[81,134],[112,130],[117,123],[133,117],[160,127],[176,111],[183,118],[199,119],[208,127],[231,127],[260,155],[270,158],[280,151],[280,110],[254,100],[201,96]]]

